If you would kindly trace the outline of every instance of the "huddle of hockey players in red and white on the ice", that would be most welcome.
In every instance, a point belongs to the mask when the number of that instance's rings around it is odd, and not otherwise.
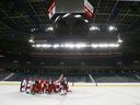
[[[40,80],[40,79],[24,79],[21,82],[20,92],[26,92],[27,94],[52,94],[60,93],[66,95],[69,92],[67,78],[63,75],[60,79],[52,81],[52,79]]]

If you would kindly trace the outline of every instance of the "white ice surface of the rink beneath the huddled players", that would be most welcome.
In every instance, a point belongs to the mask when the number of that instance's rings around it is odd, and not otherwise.
[[[70,86],[67,95],[19,92],[19,85],[0,85],[0,105],[140,105],[140,86]]]

